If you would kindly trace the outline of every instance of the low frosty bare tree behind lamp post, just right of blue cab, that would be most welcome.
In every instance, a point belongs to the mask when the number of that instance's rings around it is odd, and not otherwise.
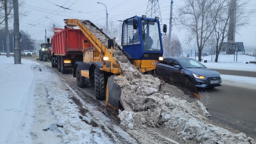
[[[171,56],[180,56],[182,49],[178,36],[176,34],[172,34],[171,40]],[[163,48],[165,49],[164,55],[167,55],[169,35],[164,35],[162,37],[162,43]]]

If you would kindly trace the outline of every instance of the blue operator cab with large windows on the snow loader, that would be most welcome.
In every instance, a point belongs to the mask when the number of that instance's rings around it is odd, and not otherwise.
[[[146,18],[143,15],[124,20],[122,50],[132,60],[158,60],[162,57],[163,44],[158,18]]]

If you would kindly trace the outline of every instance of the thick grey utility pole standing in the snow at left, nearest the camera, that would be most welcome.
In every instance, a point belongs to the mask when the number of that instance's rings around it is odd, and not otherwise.
[[[13,0],[14,19],[14,64],[21,64],[18,0]]]

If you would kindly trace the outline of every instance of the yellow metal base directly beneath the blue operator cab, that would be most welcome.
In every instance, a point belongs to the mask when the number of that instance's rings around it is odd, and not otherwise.
[[[142,73],[154,70],[157,67],[157,60],[133,60],[133,63]]]

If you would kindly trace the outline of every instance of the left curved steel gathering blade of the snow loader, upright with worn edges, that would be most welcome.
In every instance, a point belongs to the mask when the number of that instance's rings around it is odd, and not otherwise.
[[[121,100],[121,87],[114,83],[114,76],[108,77],[106,86],[106,109],[109,111],[110,116],[118,124],[120,124],[119,109],[124,110]]]

